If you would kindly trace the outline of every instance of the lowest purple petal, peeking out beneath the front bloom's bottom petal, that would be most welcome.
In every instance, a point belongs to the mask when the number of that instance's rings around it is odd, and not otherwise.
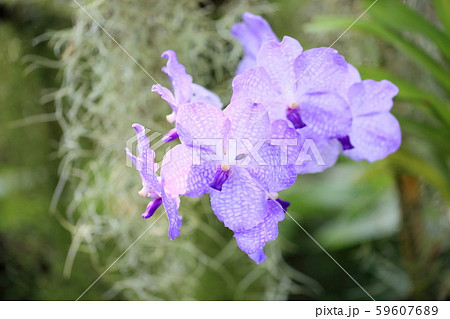
[[[275,240],[278,236],[278,222],[284,219],[284,215],[277,202],[268,200],[267,215],[261,223],[251,229],[234,233],[239,248],[251,255],[263,248],[268,241]]]

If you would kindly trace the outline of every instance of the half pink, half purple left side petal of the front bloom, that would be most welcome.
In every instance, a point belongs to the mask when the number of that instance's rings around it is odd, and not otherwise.
[[[161,183],[168,193],[202,196],[209,192],[218,164],[196,159],[194,150],[184,144],[166,153],[161,167]]]

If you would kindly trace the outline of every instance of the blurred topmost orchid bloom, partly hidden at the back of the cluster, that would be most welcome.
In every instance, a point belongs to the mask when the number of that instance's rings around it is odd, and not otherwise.
[[[244,22],[238,22],[231,28],[231,34],[244,48],[244,57],[238,65],[236,74],[241,74],[256,65],[259,49],[266,41],[278,41],[269,23],[262,17],[245,12],[242,20]]]

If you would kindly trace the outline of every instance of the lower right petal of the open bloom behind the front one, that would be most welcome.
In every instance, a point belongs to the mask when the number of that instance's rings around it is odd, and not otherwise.
[[[338,94],[306,94],[300,100],[299,110],[310,136],[343,137],[350,132],[352,125],[350,107]]]

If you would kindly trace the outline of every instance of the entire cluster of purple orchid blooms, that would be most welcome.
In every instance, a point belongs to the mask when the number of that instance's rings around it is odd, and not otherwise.
[[[303,51],[291,37],[279,41],[251,13],[231,32],[245,56],[230,104],[222,109],[220,98],[193,83],[175,52],[166,51],[163,71],[173,92],[159,84],[152,91],[172,108],[167,120],[175,128],[163,140],[181,143],[165,154],[158,176],[144,127],[134,124],[139,155],[127,154],[141,175],[139,195],[151,198],[143,218],[163,204],[175,239],[180,195],[209,193],[214,214],[260,263],[289,206],[278,192],[297,175],[321,172],[339,154],[373,162],[399,148],[400,127],[390,113],[398,89],[387,80],[361,80],[334,49]]]

